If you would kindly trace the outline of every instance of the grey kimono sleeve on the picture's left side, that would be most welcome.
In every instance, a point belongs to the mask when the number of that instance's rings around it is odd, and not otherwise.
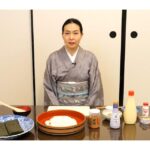
[[[53,63],[50,58],[47,61],[44,73],[44,105],[59,105],[57,99],[56,80],[55,75],[52,73]]]

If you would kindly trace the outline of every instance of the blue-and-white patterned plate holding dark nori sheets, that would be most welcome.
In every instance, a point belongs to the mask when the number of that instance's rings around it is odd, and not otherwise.
[[[10,136],[0,136],[0,139],[15,139],[21,135],[26,134],[27,132],[31,131],[34,127],[34,121],[31,118],[19,116],[19,115],[2,115],[0,116],[0,122],[5,122],[8,120],[15,120],[19,121],[21,128],[23,129],[22,133],[10,135]]]

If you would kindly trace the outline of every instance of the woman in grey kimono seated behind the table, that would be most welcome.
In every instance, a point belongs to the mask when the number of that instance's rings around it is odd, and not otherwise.
[[[64,46],[53,52],[44,74],[45,105],[101,106],[103,87],[96,57],[79,46],[82,24],[70,18],[62,26]]]

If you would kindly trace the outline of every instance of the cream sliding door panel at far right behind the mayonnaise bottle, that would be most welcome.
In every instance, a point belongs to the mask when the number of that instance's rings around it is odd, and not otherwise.
[[[137,32],[132,38],[131,33]],[[136,104],[150,102],[150,10],[127,11],[124,103],[129,89]]]

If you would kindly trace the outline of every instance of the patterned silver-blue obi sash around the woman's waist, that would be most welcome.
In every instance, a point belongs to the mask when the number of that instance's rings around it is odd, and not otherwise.
[[[58,82],[57,92],[60,105],[84,105],[89,95],[88,81]]]

